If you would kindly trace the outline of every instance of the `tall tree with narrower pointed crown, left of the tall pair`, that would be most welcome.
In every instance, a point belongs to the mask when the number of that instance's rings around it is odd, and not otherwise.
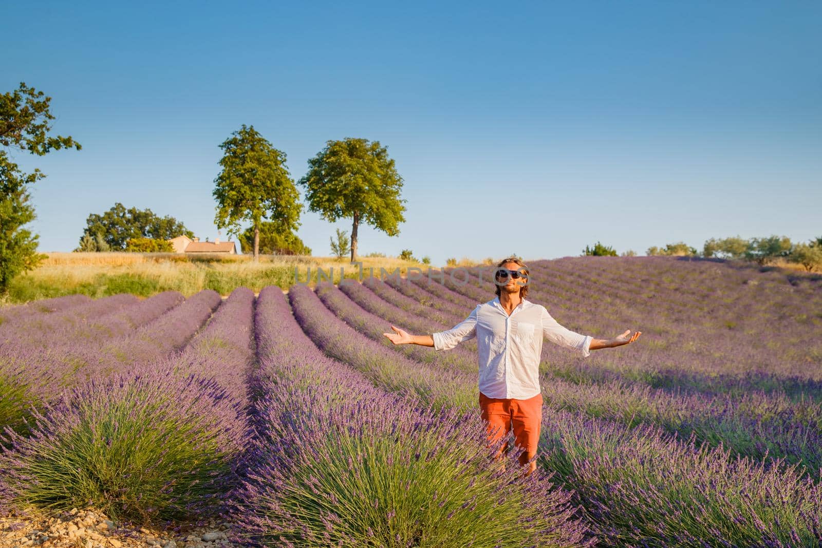
[[[240,223],[252,223],[254,260],[260,260],[260,225],[270,219],[293,232],[299,226],[302,204],[285,167],[285,153],[271,146],[254,126],[242,127],[223,141],[223,168],[215,178],[215,223],[239,237]]]

